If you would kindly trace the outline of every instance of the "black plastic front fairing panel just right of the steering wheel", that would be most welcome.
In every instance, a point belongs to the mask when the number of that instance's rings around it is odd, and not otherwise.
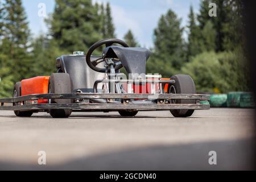
[[[104,50],[105,56],[118,58],[127,73],[146,73],[146,61],[151,55],[151,51],[139,47],[109,46]]]

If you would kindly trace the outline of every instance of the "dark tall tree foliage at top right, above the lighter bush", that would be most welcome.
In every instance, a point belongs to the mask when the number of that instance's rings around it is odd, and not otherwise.
[[[216,3],[217,16],[209,16],[209,3]],[[241,43],[241,2],[236,0],[202,0],[198,15],[201,30],[210,21],[216,31],[216,51],[234,50]]]

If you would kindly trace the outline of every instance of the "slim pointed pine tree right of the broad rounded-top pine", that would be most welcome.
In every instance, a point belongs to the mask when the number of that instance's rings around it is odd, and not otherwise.
[[[200,27],[196,24],[196,17],[193,12],[193,7],[190,7],[190,12],[188,15],[189,18],[189,33],[188,33],[188,60],[191,57],[197,55],[198,53],[202,52],[203,48],[203,41],[201,40],[200,36]],[[213,40],[215,41],[215,40]]]

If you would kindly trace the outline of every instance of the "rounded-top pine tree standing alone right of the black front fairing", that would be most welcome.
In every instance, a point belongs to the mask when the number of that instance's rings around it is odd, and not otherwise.
[[[162,73],[170,77],[176,73],[185,61],[183,28],[181,19],[172,10],[162,15],[154,31],[154,55],[147,63],[147,71]]]

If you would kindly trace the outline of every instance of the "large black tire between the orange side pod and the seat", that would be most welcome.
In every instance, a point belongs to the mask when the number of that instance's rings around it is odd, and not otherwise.
[[[52,73],[49,79],[48,93],[72,93],[71,80],[68,73]],[[49,100],[49,103],[72,103],[71,99]],[[72,109],[50,109],[49,114],[53,118],[68,118]]]

